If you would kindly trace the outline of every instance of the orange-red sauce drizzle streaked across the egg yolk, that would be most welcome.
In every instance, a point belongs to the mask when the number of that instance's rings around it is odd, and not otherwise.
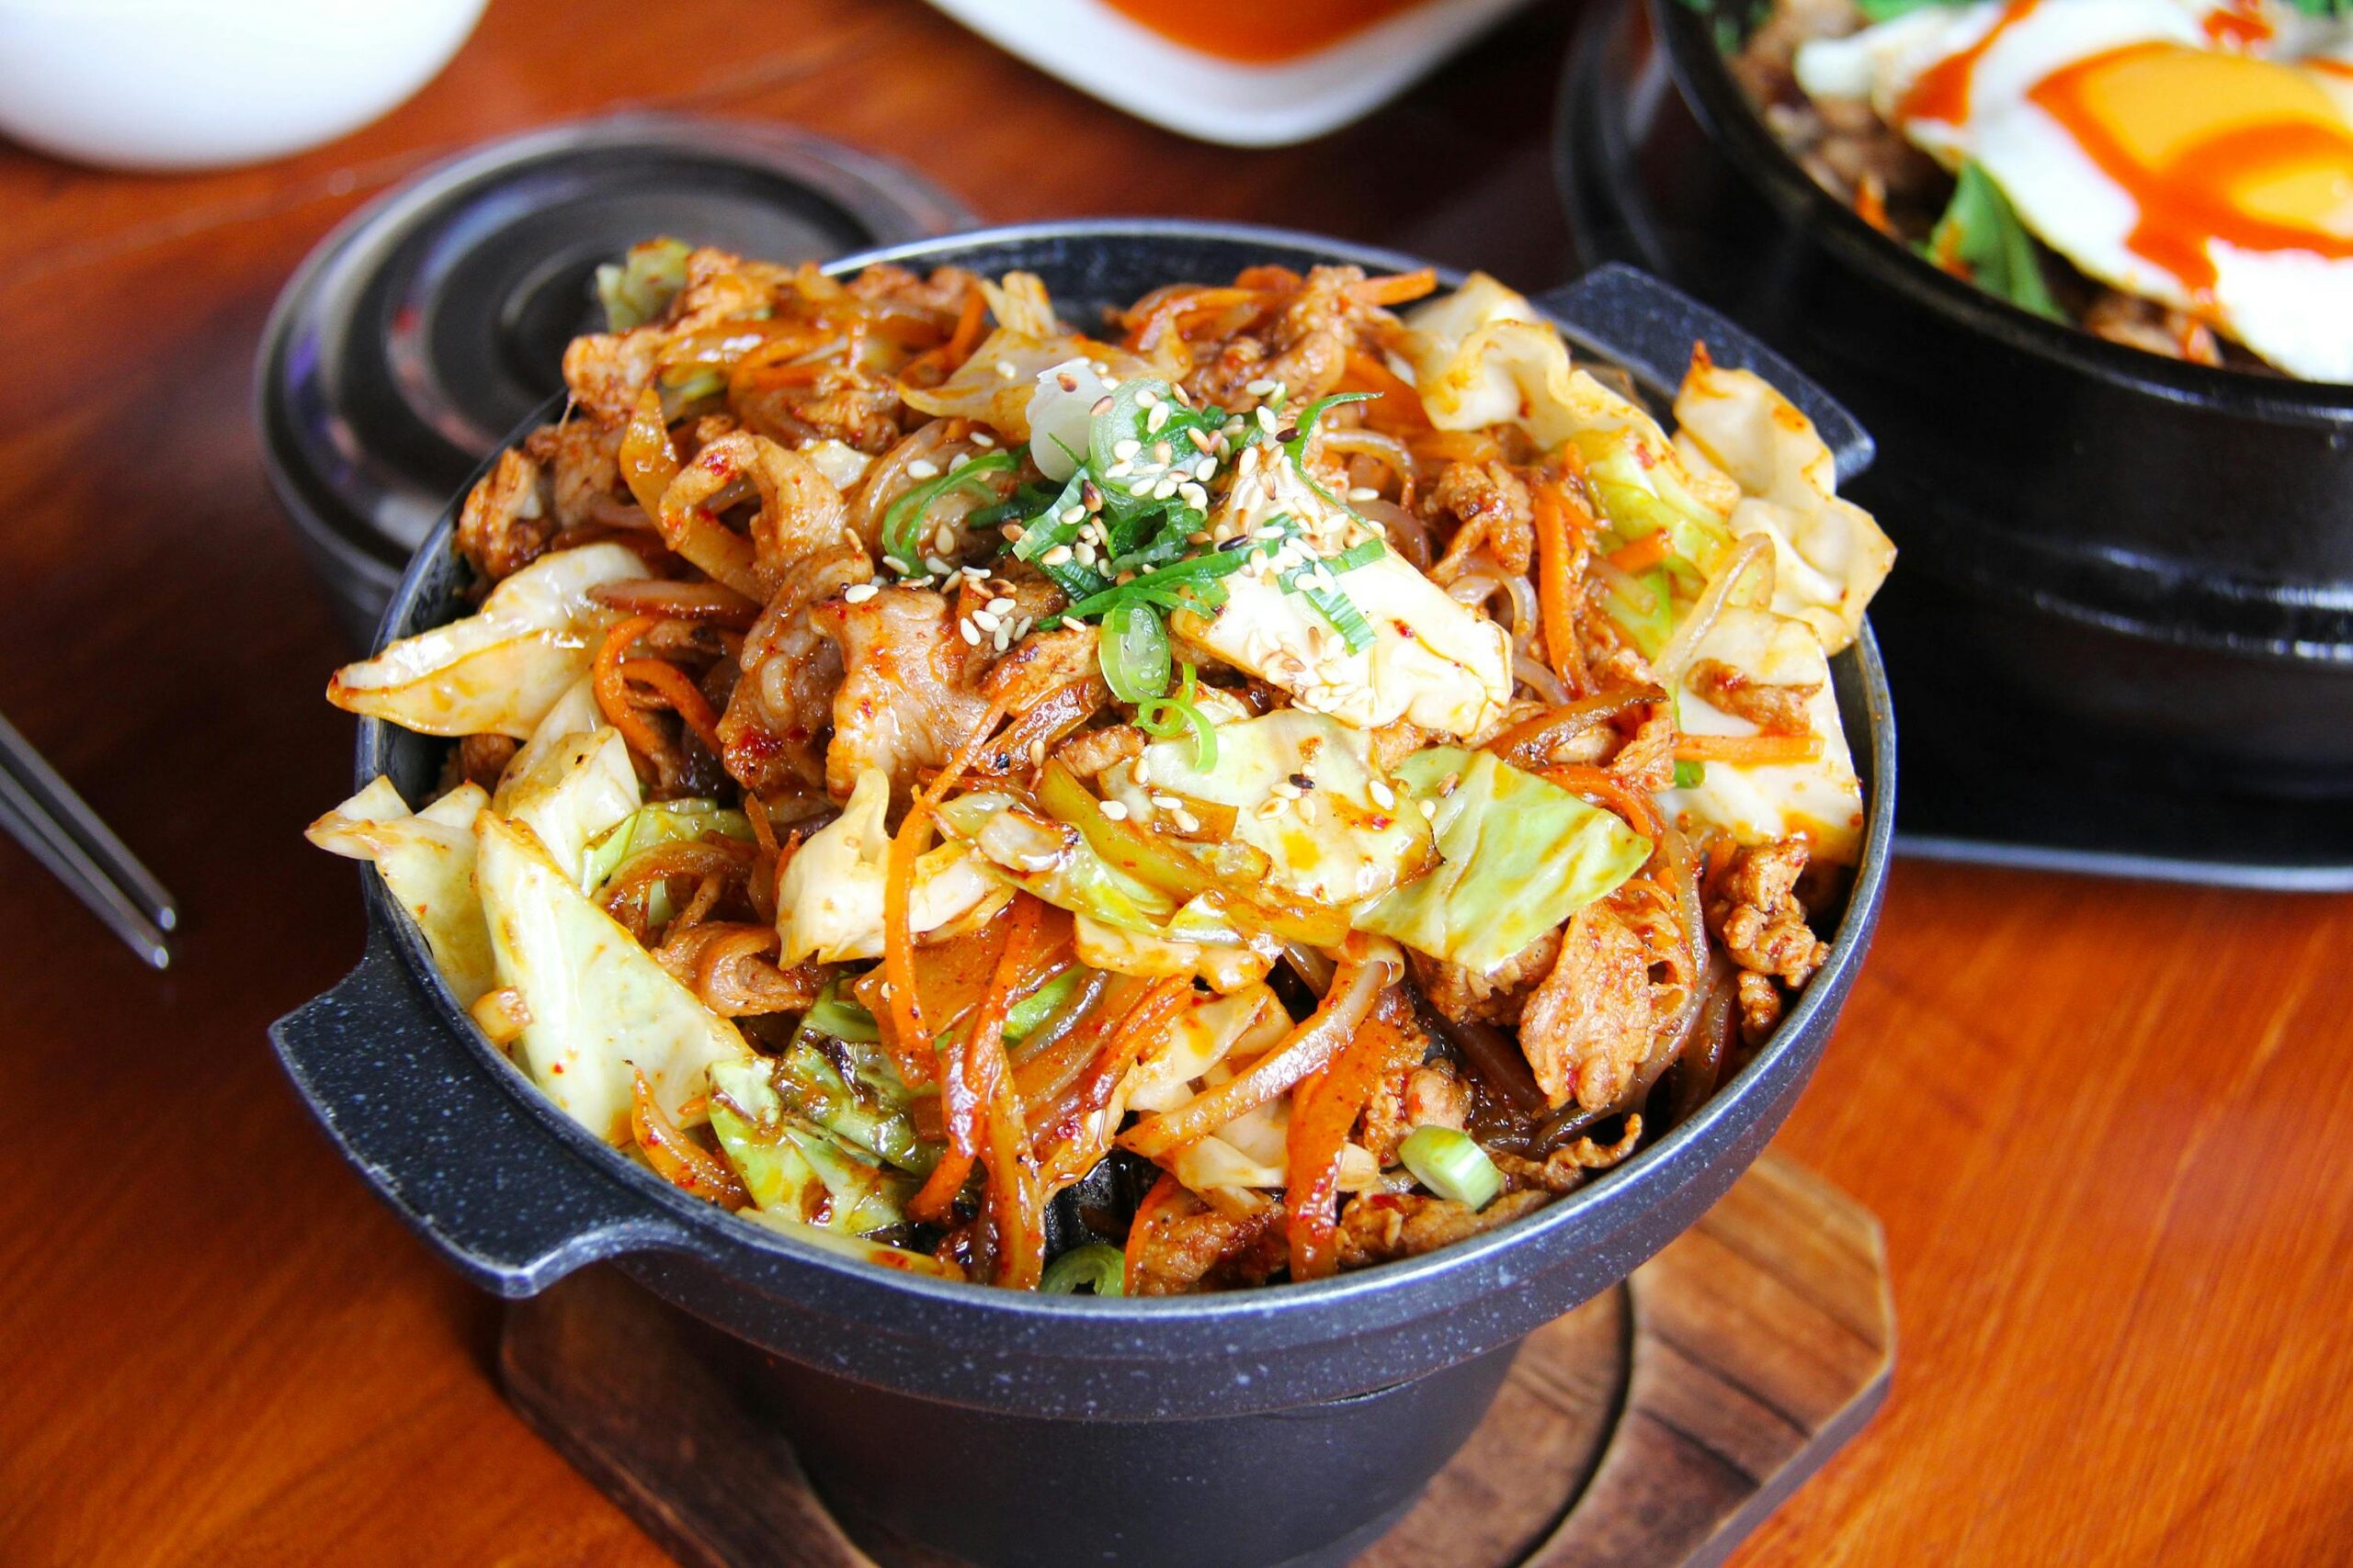
[[[2167,52],[2177,45],[2144,42],[2061,66],[2026,94],[2068,129],[2075,146],[2139,207],[2141,221],[2125,240],[2134,254],[2165,268],[2193,294],[2214,289],[2207,240],[2249,252],[2313,252],[2341,261],[2353,256],[2353,237],[2320,228],[2280,223],[2247,212],[2231,193],[2273,169],[2306,162],[2353,165],[2353,132],[2311,120],[2242,125],[2209,136],[2153,169],[2134,158],[2092,110],[2087,85],[2120,56]]]

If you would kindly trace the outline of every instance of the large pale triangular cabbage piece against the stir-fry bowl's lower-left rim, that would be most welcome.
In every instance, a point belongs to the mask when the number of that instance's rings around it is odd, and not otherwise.
[[[711,1067],[751,1056],[736,1027],[673,980],[520,827],[485,811],[475,839],[496,978],[529,1016],[513,1046],[522,1067],[612,1143],[628,1140],[638,1072],[671,1121],[701,1121]]]

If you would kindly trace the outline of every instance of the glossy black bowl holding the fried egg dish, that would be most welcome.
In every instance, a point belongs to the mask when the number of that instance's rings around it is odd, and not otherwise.
[[[1988,738],[2026,696],[2205,788],[2353,792],[2353,386],[2148,355],[1920,261],[1751,108],[1715,42],[1744,7],[1588,14],[1569,221],[1586,261],[1689,289],[1871,425],[1887,463],[1854,494],[1904,550],[1899,684],[1944,682]]]

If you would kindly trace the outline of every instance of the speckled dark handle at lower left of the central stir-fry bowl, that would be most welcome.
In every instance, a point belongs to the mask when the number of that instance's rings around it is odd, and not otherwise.
[[[341,985],[271,1025],[346,1159],[466,1279],[536,1295],[572,1269],[687,1237],[546,1128],[426,1011],[381,936]]]

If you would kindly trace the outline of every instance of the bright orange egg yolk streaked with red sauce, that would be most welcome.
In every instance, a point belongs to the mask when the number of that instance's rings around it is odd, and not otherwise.
[[[2061,66],[2028,94],[2139,209],[2127,244],[2209,294],[2209,240],[2353,256],[2353,125],[2313,78],[2144,42]]]

